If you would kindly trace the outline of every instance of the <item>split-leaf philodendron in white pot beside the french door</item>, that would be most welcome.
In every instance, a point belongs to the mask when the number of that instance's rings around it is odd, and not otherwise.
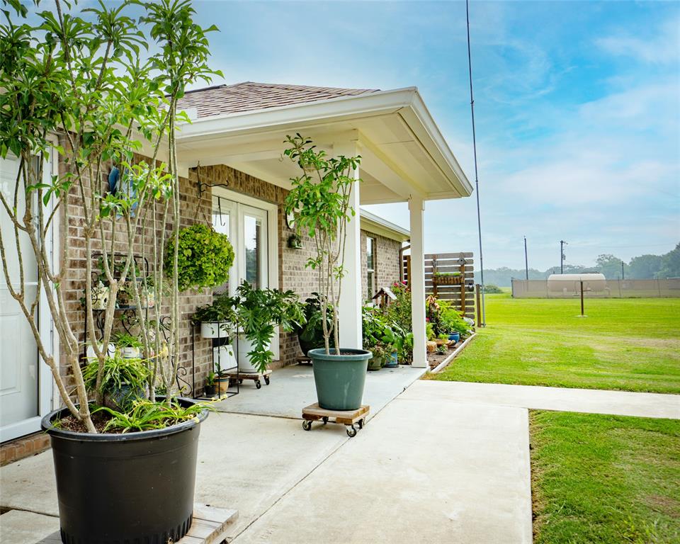
[[[246,281],[232,300],[238,324],[239,372],[264,372],[273,358],[274,327],[284,331],[300,327],[305,322],[302,304],[293,291],[254,289]]]

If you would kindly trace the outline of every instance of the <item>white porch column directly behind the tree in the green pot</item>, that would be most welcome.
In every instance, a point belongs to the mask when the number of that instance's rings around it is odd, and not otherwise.
[[[354,157],[357,154],[356,141],[343,142],[333,146],[333,154],[338,157]],[[361,228],[359,221],[359,169],[353,173],[354,185],[350,196],[350,206],[356,212],[347,225],[342,291],[340,293],[339,320],[340,346],[361,348]]]

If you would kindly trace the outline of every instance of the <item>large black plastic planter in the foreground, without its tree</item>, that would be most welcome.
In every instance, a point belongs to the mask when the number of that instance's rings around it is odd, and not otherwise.
[[[179,399],[184,406],[192,400]],[[64,544],[166,544],[191,526],[200,421],[125,434],[74,433],[42,419],[55,459]]]

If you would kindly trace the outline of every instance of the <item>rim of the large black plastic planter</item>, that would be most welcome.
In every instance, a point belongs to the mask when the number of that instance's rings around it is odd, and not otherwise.
[[[195,400],[185,397],[176,397],[175,400],[181,402],[181,404],[198,404]],[[78,407],[78,404],[76,404],[76,407]],[[201,410],[197,416],[198,421],[196,418],[194,418],[189,419],[188,421],[182,421],[179,424],[165,427],[164,429],[152,429],[150,431],[130,431],[128,433],[77,433],[75,431],[59,429],[52,424],[52,420],[55,419],[55,416],[60,416],[59,419],[62,419],[62,417],[70,414],[71,411],[66,407],[53,410],[42,418],[40,421],[40,429],[51,436],[59,437],[64,440],[75,440],[79,442],[129,442],[135,440],[147,440],[148,438],[160,438],[162,436],[169,436],[171,434],[181,433],[191,429],[191,427],[200,424],[201,421],[208,417],[208,409]]]

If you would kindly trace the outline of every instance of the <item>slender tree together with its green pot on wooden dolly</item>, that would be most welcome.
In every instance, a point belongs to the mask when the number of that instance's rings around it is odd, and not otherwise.
[[[353,184],[358,181],[352,173],[361,158],[327,157],[323,150],[314,147],[312,140],[300,134],[288,136],[286,142],[289,147],[284,154],[300,167],[302,175],[290,180],[292,188],[285,199],[285,210],[295,217],[297,232],[306,231],[314,241],[314,256],[307,266],[317,271],[319,282],[324,348],[307,353],[313,363],[317,399],[325,409],[356,410],[361,407],[371,353],[340,346],[338,307],[347,225],[356,214],[350,196]]]

